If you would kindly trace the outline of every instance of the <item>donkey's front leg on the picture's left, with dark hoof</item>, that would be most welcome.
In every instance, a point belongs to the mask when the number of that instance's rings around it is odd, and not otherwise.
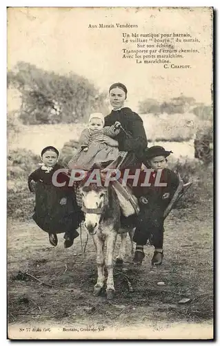
[[[101,289],[103,288],[105,275],[104,275],[104,243],[101,239],[99,239],[98,235],[93,235],[94,246],[97,251],[97,283],[94,285],[94,295],[99,295]]]

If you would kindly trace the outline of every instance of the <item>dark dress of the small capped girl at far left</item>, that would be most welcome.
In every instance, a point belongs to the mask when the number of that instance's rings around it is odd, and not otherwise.
[[[73,188],[68,188],[68,177],[59,174],[59,183],[67,181],[63,188],[52,184],[52,174],[56,170],[63,168],[61,165],[54,165],[50,172],[40,168],[28,176],[28,187],[30,182],[35,181],[35,208],[32,219],[47,233],[74,233],[81,221],[81,212],[77,206]],[[66,205],[61,206],[60,201],[66,197]]]

